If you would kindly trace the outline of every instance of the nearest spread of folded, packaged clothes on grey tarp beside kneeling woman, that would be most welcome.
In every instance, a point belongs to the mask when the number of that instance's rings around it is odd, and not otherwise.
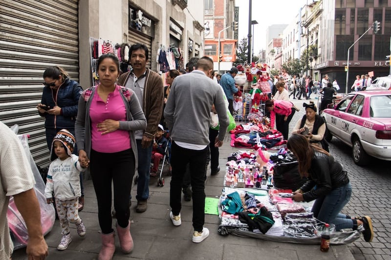
[[[268,191],[269,196],[249,195],[249,190],[250,188],[223,188],[218,206],[220,235],[232,234],[276,242],[320,244],[324,223],[316,220],[310,212],[313,202],[293,202],[286,198],[292,190],[272,188]],[[243,210],[235,214],[226,212],[222,205],[222,201],[226,201],[228,196],[232,198],[233,194],[236,197],[235,203],[239,198],[244,201]],[[275,203],[271,202],[272,198]],[[225,204],[227,205],[226,202]],[[360,237],[357,230],[336,231],[333,224],[330,226],[330,244],[348,244]]]

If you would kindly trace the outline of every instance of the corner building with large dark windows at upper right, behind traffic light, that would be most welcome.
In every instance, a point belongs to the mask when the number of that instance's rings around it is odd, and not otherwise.
[[[323,1],[321,39],[318,41],[320,60],[314,69],[321,75],[336,79],[345,91],[353,84],[356,75],[373,71],[374,78],[386,76],[390,71],[391,2],[388,0],[333,0]],[[348,82],[345,66],[348,48],[363,35],[373,22],[381,22],[380,31],[370,29],[349,54]]]

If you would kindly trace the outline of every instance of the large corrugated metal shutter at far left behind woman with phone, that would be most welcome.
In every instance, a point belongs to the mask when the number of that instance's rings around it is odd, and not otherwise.
[[[38,115],[43,72],[59,65],[79,80],[78,0],[0,1],[0,120],[30,135],[34,160],[48,164]]]

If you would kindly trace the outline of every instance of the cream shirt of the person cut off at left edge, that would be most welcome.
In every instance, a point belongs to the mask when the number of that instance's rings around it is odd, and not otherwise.
[[[7,221],[9,197],[32,189],[34,184],[21,141],[0,122],[0,259],[9,259],[14,249]]]

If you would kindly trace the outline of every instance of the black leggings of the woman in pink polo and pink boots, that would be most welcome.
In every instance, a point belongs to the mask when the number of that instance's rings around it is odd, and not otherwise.
[[[129,196],[134,176],[135,158],[131,149],[117,153],[91,150],[90,172],[98,201],[98,219],[103,234],[113,232],[111,221],[111,183],[114,188],[114,209],[118,224],[127,227]]]

